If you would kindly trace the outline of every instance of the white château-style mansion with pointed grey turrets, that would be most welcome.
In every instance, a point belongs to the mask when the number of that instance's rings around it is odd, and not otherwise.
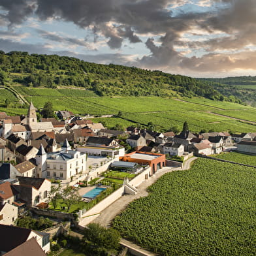
[[[57,152],[46,153],[41,146],[35,159],[39,177],[67,180],[86,172],[86,153],[71,150],[67,140]]]

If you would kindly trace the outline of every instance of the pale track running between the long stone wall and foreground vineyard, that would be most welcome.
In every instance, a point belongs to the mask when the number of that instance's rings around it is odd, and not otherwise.
[[[190,168],[190,164],[192,161],[197,159],[197,157],[191,157],[184,163],[183,168],[170,168],[170,167],[165,167],[161,170],[159,170],[156,174],[154,174],[150,179],[142,182],[138,186],[138,193],[136,195],[123,195],[120,199],[116,200],[108,206],[106,209],[104,209],[101,212],[101,215],[94,219],[93,223],[99,223],[100,225],[104,227],[110,227],[112,219],[116,217],[122,210],[125,209],[125,207],[132,202],[135,199],[138,199],[140,197],[146,197],[148,195],[148,192],[146,189],[155,183],[163,174],[166,174],[167,172],[172,172],[174,170],[187,170]]]

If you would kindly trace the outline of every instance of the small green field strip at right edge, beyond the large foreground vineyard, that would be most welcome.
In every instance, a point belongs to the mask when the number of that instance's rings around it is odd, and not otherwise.
[[[214,157],[232,161],[235,163],[244,163],[245,165],[252,165],[256,167],[256,155],[246,155],[244,153],[231,152],[214,155]]]

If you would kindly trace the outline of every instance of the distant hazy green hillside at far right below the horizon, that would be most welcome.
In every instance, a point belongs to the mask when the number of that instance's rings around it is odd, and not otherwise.
[[[226,97],[236,97],[242,102],[256,106],[256,76],[236,76],[227,78],[200,78]]]

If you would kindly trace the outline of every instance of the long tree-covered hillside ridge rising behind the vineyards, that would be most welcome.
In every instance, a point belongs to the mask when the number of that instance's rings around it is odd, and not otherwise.
[[[33,88],[79,86],[99,96],[200,96],[239,102],[223,97],[208,82],[187,76],[88,63],[74,57],[29,55],[27,52],[0,52],[0,83]]]

